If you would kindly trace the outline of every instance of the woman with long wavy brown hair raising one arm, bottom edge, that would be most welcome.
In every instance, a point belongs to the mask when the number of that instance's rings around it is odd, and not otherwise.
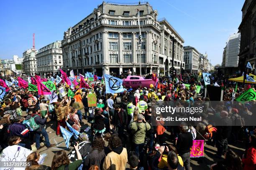
[[[77,168],[82,164],[82,156],[78,150],[78,143],[74,145],[74,148],[77,153],[77,160],[70,163],[69,158],[65,150],[59,150],[54,154],[54,158],[51,162],[51,170],[77,170]]]

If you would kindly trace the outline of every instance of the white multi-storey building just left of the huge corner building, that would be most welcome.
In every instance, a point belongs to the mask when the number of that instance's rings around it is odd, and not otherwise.
[[[37,71],[46,77],[49,73],[60,73],[63,67],[61,41],[53,42],[38,50],[36,54]]]

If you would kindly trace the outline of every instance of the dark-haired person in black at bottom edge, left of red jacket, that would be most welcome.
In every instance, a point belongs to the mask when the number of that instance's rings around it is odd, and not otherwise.
[[[243,170],[241,158],[233,150],[228,150],[225,159],[211,165],[211,170]]]

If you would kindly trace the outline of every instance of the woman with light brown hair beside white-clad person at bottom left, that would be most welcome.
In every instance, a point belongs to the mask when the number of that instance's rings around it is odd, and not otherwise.
[[[39,165],[38,161],[40,158],[40,154],[37,152],[33,152],[27,157],[27,165],[25,170],[51,170],[51,167],[46,165]]]

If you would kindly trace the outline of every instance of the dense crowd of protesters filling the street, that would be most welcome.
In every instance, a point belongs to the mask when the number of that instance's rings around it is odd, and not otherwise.
[[[193,140],[209,139],[207,144],[217,148],[215,157],[219,159],[211,165],[212,170],[255,170],[256,128],[243,122],[255,122],[256,102],[231,102],[236,84],[224,77],[223,80],[216,77],[211,81],[223,87],[227,102],[211,106],[210,99],[201,96],[204,81],[195,74],[184,74],[175,79],[159,77],[156,87],[124,87],[123,92],[115,94],[106,94],[105,82],[96,78],[88,81],[88,89],[72,89],[74,97],[61,98],[56,90],[59,100],[51,104],[49,97],[13,85],[0,108],[0,159],[18,145],[30,151],[26,161],[32,165],[26,170],[76,170],[81,164],[84,170],[189,170]],[[189,88],[183,83],[190,84]],[[202,94],[197,93],[197,85],[201,85]],[[70,88],[62,83],[56,85],[56,89],[59,87],[65,87],[66,91]],[[236,97],[249,88],[253,87],[238,85]],[[97,107],[88,107],[87,97],[92,93],[97,96]],[[154,107],[163,106],[165,102],[173,102],[174,107],[201,105],[203,112],[198,116],[202,121],[197,125],[189,122],[164,125],[164,121],[156,120]],[[164,114],[168,115],[168,112],[163,113],[163,117],[166,116]],[[28,127],[23,122],[31,117],[38,128],[27,132]],[[66,151],[60,150],[54,154],[51,167],[38,164],[38,150],[54,146],[46,132],[47,124],[56,124],[56,135],[61,136],[60,126],[66,128],[66,121],[75,130],[82,131],[85,120],[91,125],[89,135],[94,136],[90,141],[92,149],[86,157],[79,153],[76,143],[76,161],[71,162]],[[223,125],[215,125],[214,122],[223,122]],[[214,130],[209,131],[209,126]],[[228,143],[236,144],[240,140],[245,144],[246,152],[239,156],[228,148]],[[172,144],[167,145],[166,141]],[[36,148],[32,149],[34,143]]]

